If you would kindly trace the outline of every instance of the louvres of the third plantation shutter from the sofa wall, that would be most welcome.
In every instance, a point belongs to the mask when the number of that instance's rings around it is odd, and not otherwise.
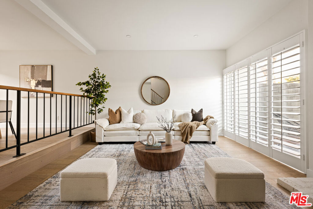
[[[250,130],[251,141],[268,145],[268,69],[267,57],[250,60]]]

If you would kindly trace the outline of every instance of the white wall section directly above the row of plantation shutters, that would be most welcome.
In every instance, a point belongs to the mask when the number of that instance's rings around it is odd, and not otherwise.
[[[308,0],[294,0],[226,50],[226,66],[233,65],[289,36],[307,29]]]

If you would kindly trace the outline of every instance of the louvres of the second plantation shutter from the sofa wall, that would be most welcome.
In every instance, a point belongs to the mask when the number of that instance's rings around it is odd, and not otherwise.
[[[244,138],[248,138],[248,100],[248,66],[238,64],[235,70],[234,128],[235,134]]]

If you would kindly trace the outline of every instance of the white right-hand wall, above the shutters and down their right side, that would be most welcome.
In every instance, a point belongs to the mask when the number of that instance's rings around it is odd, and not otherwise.
[[[313,1],[293,0],[226,50],[226,66],[233,65],[269,46],[305,30],[306,74],[306,166],[313,177]]]

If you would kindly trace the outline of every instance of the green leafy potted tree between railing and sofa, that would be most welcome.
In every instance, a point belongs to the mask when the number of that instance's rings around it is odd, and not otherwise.
[[[85,86],[85,88],[80,87],[80,91],[83,92],[83,95],[87,98],[90,98],[90,110],[87,111],[89,115],[94,115],[95,120],[97,120],[97,113],[100,114],[103,112],[103,104],[108,98],[105,97],[105,94],[109,92],[111,85],[108,81],[105,81],[105,76],[101,74],[98,67],[95,67],[95,70],[92,71],[92,74],[88,76],[89,80],[85,82],[78,82],[76,86]],[[95,122],[96,124],[96,122]],[[90,132],[91,141],[96,141],[95,131]]]

